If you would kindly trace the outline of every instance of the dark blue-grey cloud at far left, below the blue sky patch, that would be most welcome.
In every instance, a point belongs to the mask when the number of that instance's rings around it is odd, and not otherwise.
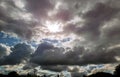
[[[11,48],[10,55],[4,57],[0,62],[1,65],[15,65],[29,60],[30,55],[34,52],[30,45],[19,43]]]

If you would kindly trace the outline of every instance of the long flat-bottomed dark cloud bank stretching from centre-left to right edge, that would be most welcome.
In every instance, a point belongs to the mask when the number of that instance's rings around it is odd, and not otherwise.
[[[30,62],[42,65],[44,69],[50,69],[53,65],[106,64],[118,62],[116,56],[119,54],[119,48],[113,51],[108,50],[108,46],[105,47],[104,45],[96,46],[92,50],[85,50],[84,47],[80,46],[68,50],[53,46],[48,49],[37,49]]]

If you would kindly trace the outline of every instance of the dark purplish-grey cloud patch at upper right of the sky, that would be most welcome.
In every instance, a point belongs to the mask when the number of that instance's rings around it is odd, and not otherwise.
[[[85,26],[81,29],[84,32],[92,32],[92,34],[99,35],[100,26],[104,22],[111,20],[119,9],[109,7],[108,5],[98,3],[95,9],[88,11],[83,17],[87,19]],[[85,29],[85,30],[84,30]]]

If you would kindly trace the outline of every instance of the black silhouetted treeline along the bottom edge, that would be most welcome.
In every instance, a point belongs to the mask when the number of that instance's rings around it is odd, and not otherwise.
[[[43,76],[38,76],[36,74],[26,74],[26,75],[19,75],[16,71],[9,72],[7,75],[0,74],[0,77],[47,77],[45,74]],[[57,75],[56,77],[61,77]],[[63,77],[63,76],[62,76]],[[120,77],[120,65],[115,67],[115,71],[113,74],[105,73],[105,72],[97,72],[92,75],[84,75],[83,77]]]

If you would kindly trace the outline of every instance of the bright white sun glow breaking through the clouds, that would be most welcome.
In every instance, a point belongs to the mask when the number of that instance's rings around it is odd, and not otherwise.
[[[57,33],[62,31],[62,23],[46,21],[45,26],[50,33]]]

